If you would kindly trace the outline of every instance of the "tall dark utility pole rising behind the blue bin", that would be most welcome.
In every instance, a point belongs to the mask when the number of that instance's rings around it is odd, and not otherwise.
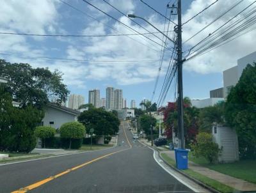
[[[181,0],[177,0],[177,68],[178,68],[178,123],[179,123],[179,148],[185,149],[184,120],[183,120],[183,85],[182,85],[182,23],[181,23]]]

